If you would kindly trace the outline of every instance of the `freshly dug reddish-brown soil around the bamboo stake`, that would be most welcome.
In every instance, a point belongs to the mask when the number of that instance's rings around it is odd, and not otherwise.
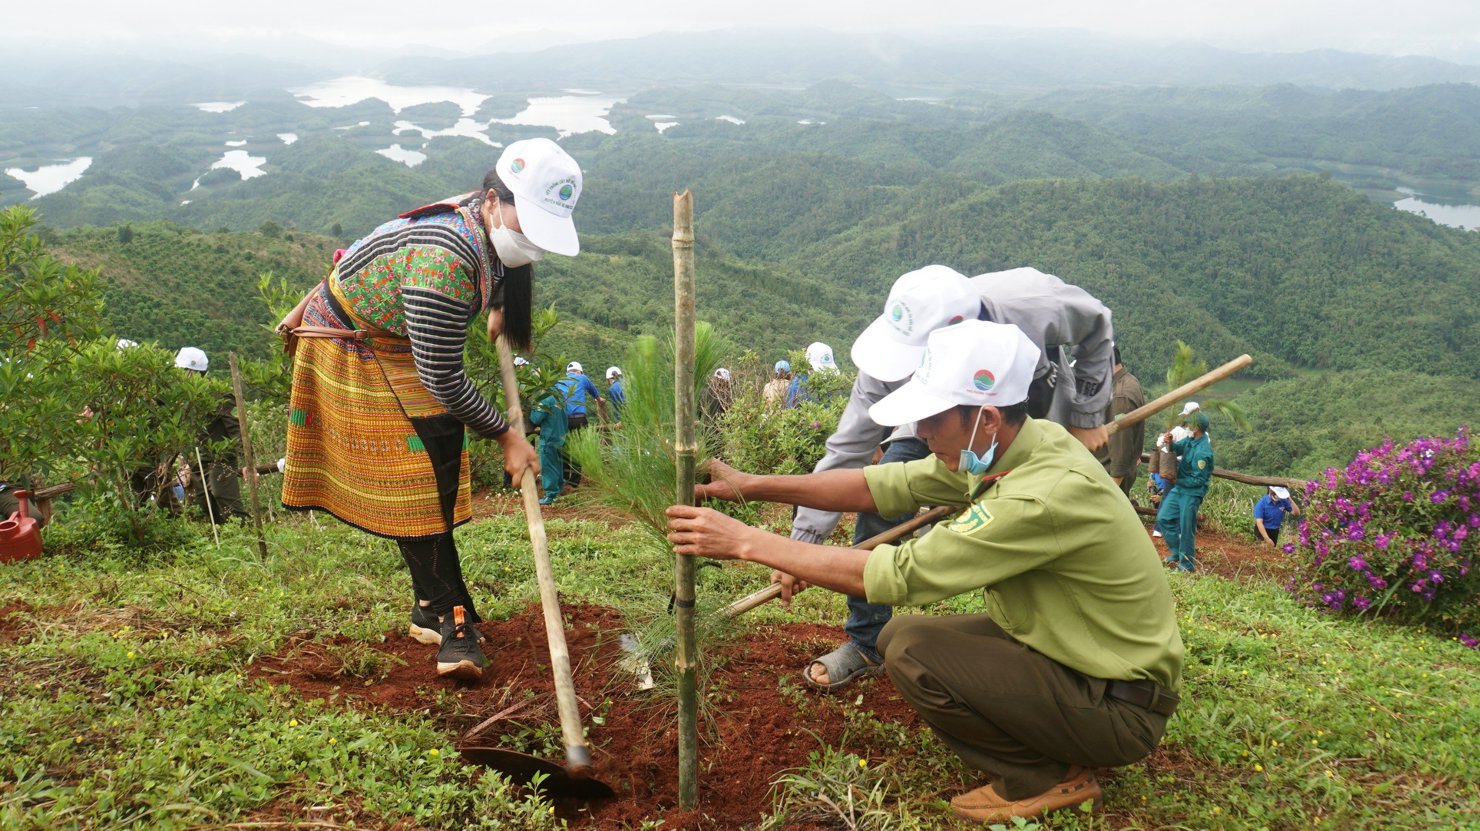
[[[807,661],[836,646],[838,627],[755,627],[703,656],[712,668],[707,705],[700,714],[699,809],[684,812],[676,807],[676,699],[659,690],[636,690],[633,677],[620,667],[623,621],[616,612],[574,604],[565,604],[562,612],[595,773],[617,792],[607,801],[558,804],[574,828],[636,827],[644,819],[663,819],[663,828],[741,828],[770,810],[771,784],[786,770],[805,766],[813,751],[844,747],[864,758],[884,758],[884,750],[867,741],[850,736],[844,742],[847,711],[867,711],[881,721],[925,729],[887,677],[858,681],[839,695],[798,689]],[[437,690],[456,690],[456,711],[440,712],[454,733],[522,702],[478,732],[475,744],[531,752],[521,744],[530,732],[558,735],[559,721],[540,607],[530,606],[508,621],[480,624],[480,630],[488,638],[485,652],[493,667],[477,684],[437,678],[435,647],[401,633],[374,647],[386,655],[377,664],[388,674],[369,683],[346,674],[348,638],[299,641],[280,656],[260,659],[252,673],[289,684],[305,698],[392,712],[426,712]],[[781,678],[795,683],[778,683]],[[860,695],[863,702],[855,704]],[[596,724],[593,715],[602,723]],[[548,751],[534,754],[564,763]]]

